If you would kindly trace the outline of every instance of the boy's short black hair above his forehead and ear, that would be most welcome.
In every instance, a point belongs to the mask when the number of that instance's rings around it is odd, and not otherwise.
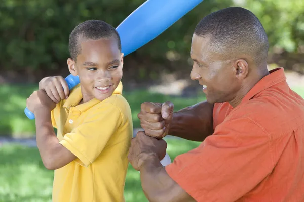
[[[98,40],[101,38],[117,39],[118,48],[121,51],[121,40],[117,30],[110,24],[102,20],[87,20],[77,25],[69,36],[69,53],[70,57],[75,61],[77,55],[80,54],[80,42],[82,40]]]

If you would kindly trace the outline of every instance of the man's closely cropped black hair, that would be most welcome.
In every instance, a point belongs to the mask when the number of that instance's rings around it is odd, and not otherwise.
[[[211,13],[199,22],[194,33],[209,36],[211,48],[227,57],[247,54],[257,65],[267,59],[267,34],[258,18],[247,9],[230,7]]]

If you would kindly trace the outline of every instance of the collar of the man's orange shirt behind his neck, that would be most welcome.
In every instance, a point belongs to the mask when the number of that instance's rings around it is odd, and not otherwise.
[[[259,92],[272,87],[282,81],[286,81],[286,76],[284,73],[284,68],[276,68],[271,71],[269,71],[269,75],[263,77],[261,80],[259,80],[251,90],[245,95],[245,97],[242,99],[242,103],[247,102],[252,97],[254,97]]]

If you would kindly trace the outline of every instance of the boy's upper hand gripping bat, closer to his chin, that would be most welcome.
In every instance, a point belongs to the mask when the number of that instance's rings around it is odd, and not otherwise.
[[[62,99],[67,99],[69,89],[62,76],[52,76],[40,81],[39,89],[45,90],[50,99],[59,103]]]

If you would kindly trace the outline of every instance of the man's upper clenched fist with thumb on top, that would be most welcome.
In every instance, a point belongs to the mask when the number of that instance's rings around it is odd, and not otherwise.
[[[141,111],[137,117],[146,135],[161,139],[169,132],[173,112],[172,102],[167,101],[163,104],[145,102],[141,104]]]

